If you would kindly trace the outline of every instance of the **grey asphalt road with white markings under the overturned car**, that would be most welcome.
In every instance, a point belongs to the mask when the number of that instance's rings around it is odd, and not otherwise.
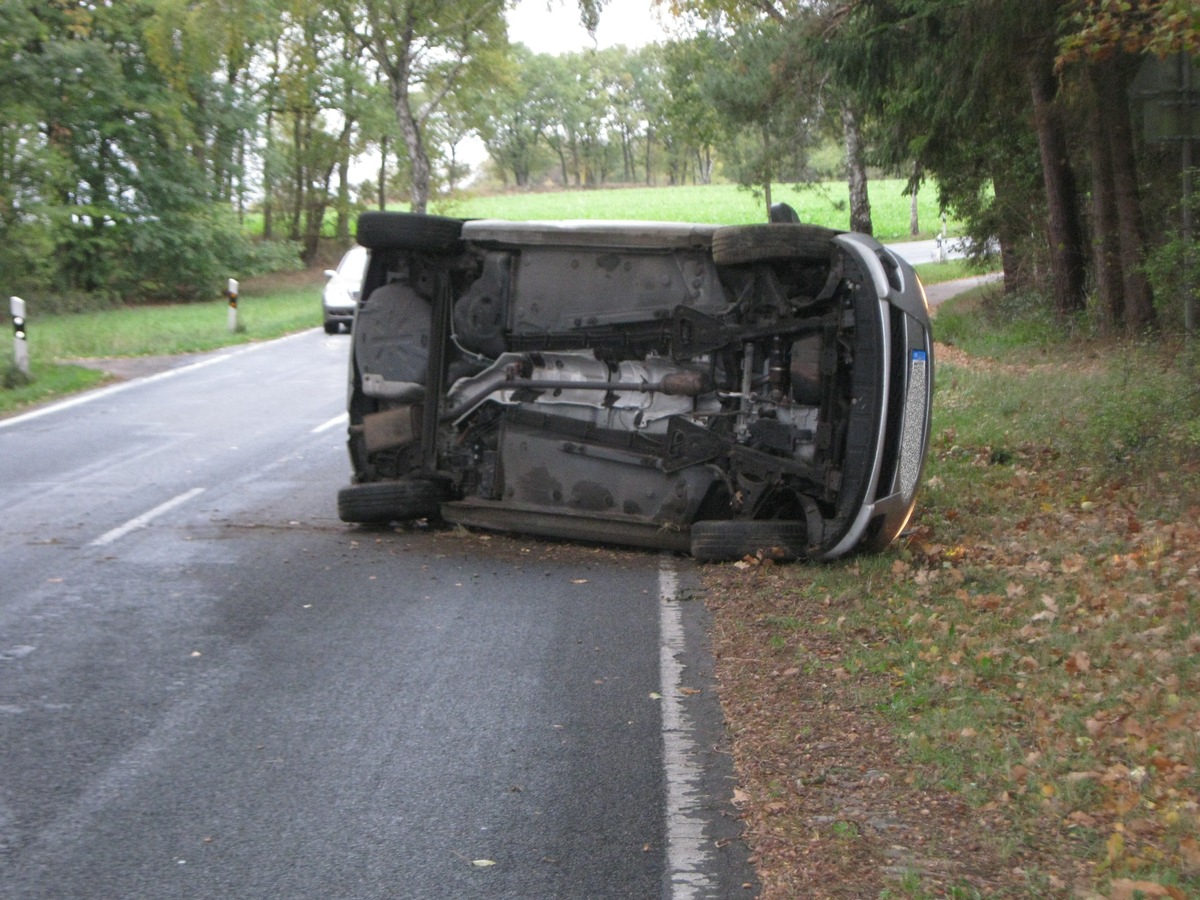
[[[0,896],[752,895],[689,563],[343,526],[347,347],[0,420]]]

